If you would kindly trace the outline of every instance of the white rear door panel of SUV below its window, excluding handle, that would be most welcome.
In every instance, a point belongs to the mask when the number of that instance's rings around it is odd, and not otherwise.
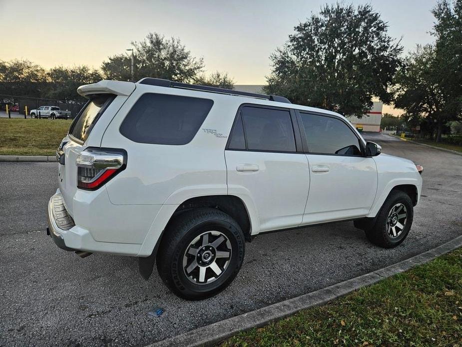
[[[228,194],[242,200],[248,197],[257,206],[259,227],[252,225],[252,234],[302,223],[310,187],[304,154],[226,150],[225,157]],[[246,163],[257,165],[258,170],[237,171]]]

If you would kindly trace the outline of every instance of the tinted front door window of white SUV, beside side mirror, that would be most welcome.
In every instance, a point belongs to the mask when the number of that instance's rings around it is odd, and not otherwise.
[[[361,155],[359,139],[342,120],[308,113],[300,113],[312,153]]]

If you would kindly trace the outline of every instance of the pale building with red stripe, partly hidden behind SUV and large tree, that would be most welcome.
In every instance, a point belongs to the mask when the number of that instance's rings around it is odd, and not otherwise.
[[[234,89],[239,91],[247,91],[251,93],[264,93],[264,85],[262,84],[235,84]],[[374,101],[372,109],[362,118],[356,116],[347,117],[348,120],[358,129],[363,131],[380,131],[380,122],[382,121],[382,107],[384,103],[381,101]]]

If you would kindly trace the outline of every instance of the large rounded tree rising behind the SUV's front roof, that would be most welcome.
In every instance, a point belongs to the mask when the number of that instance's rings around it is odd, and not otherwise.
[[[271,55],[266,91],[361,117],[373,96],[392,99],[388,88],[403,47],[387,32],[371,5],[326,5]]]

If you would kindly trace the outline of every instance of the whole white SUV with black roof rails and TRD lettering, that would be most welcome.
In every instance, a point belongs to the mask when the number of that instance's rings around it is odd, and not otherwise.
[[[89,100],[48,206],[63,249],[137,256],[145,279],[156,262],[174,293],[201,299],[259,233],[349,219],[394,247],[411,228],[422,167],[380,154],[338,113],[157,78],[77,90]]]

